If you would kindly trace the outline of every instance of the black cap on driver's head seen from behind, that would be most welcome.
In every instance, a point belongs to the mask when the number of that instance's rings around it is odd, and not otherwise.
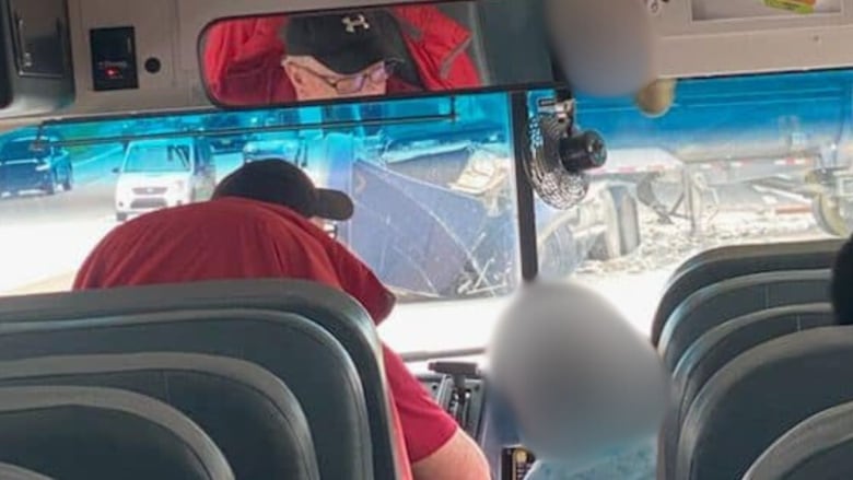
[[[306,219],[349,220],[354,209],[347,194],[315,187],[302,168],[280,159],[249,162],[237,168],[213,191],[214,199],[222,197],[288,207]]]

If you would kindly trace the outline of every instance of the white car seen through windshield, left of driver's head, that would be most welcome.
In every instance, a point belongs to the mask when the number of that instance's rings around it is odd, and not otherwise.
[[[203,200],[215,188],[210,143],[200,138],[141,140],[125,153],[116,185],[116,220]]]

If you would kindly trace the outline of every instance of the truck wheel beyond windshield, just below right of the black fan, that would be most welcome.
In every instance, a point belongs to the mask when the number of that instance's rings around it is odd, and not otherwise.
[[[629,255],[640,246],[640,215],[636,199],[628,187],[610,187],[601,197],[606,227],[595,242],[589,257],[607,261]]]

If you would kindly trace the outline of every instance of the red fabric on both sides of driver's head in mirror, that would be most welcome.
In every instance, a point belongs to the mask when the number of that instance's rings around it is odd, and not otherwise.
[[[428,91],[480,86],[477,67],[465,51],[470,33],[435,7],[393,7],[402,39]],[[205,45],[205,78],[211,95],[229,105],[262,105],[295,101],[293,85],[281,67],[285,55],[279,39],[284,15],[221,22]],[[388,93],[419,89],[392,77]]]

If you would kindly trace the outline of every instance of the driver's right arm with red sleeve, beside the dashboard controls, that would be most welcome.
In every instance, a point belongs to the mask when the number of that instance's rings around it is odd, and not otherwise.
[[[489,480],[480,447],[383,346],[385,372],[399,412],[414,480]]]

